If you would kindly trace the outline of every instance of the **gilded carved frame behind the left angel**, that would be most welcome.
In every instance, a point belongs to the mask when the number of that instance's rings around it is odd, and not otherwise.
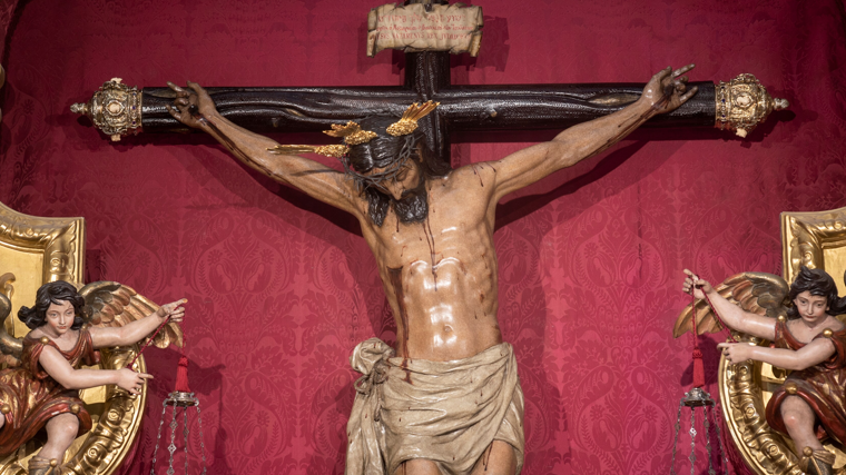
[[[47,281],[81,283],[85,263],[85,220],[82,218],[42,218],[17,212],[0,204],[0,294],[11,300],[11,307],[0,305],[0,311],[17,315],[21,304],[30,305],[36,290]],[[77,284],[81,287],[80,284]],[[130,289],[131,290],[131,289]],[[156,304],[134,295],[145,308],[157,309]],[[7,301],[9,301],[7,300]],[[3,315],[4,316],[4,315]],[[17,318],[7,318],[9,338],[0,342],[4,349],[14,349],[18,338],[29,328],[9,325]],[[131,360],[138,346],[101,349],[101,362],[92,368],[118,369]],[[13,358],[0,355],[0,368]],[[137,369],[146,372],[144,357],[136,362]],[[100,386],[80,390],[91,415],[94,427],[78,437],[66,454],[65,467],[56,475],[110,475],[116,473],[129,453],[141,426],[146,404],[146,385],[138,396],[116,386]],[[0,475],[27,475],[29,458],[40,446],[30,441],[17,453],[0,459]]]

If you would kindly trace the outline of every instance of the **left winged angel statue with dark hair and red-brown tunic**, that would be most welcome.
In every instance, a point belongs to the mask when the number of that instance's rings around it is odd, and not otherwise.
[[[91,416],[79,389],[114,384],[140,394],[151,375],[128,368],[83,369],[99,362],[97,348],[128,346],[147,337],[168,316],[178,323],[185,300],[155,309],[135,290],[117,283],[94,283],[79,291],[66,281],[41,286],[31,308],[21,307],[18,318],[30,331],[22,340],[0,330],[0,349],[20,363],[0,372],[0,458],[7,457],[41,428],[47,443],[29,462],[29,475],[48,475],[61,463],[65,451],[91,429]],[[0,294],[0,328],[11,310]],[[179,343],[181,333],[168,325],[157,346]],[[58,473],[58,472],[57,472]]]

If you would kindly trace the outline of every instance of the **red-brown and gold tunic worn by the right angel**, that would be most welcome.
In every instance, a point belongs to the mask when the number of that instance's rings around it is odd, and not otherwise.
[[[794,372],[785,384],[773,393],[767,403],[767,423],[778,432],[787,434],[781,418],[781,403],[790,395],[801,397],[817,416],[815,428],[818,438],[826,435],[846,444],[846,329],[839,331],[824,330],[817,338],[828,338],[835,347],[834,355],[827,360]],[[805,346],[787,328],[787,323],[776,323],[777,348],[799,349]]]

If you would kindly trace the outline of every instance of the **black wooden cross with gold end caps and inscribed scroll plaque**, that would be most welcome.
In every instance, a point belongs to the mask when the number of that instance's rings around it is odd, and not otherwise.
[[[374,18],[388,8],[406,17],[436,16],[422,28],[378,24]],[[469,11],[469,9],[474,9]],[[452,34],[456,41],[442,41],[431,32],[449,13],[461,12],[462,24],[478,18],[475,30]],[[471,20],[466,20],[470,17]],[[405,50],[405,81],[396,87],[209,87],[217,110],[233,122],[256,132],[313,132],[333,123],[367,116],[400,116],[411,102],[432,100],[437,109],[421,120],[426,140],[442,160],[450,161],[450,133],[456,131],[564,129],[576,123],[612,113],[634,102],[643,83],[561,83],[561,85],[453,85],[450,77],[450,53],[479,51],[481,8],[449,4],[446,0],[407,0],[403,7],[387,4],[371,11],[367,51],[382,48]],[[442,21],[443,20],[443,21]],[[411,21],[411,20],[410,20]],[[455,20],[455,22],[461,22]],[[434,27],[432,27],[434,24]],[[385,30],[400,31],[388,38]],[[452,27],[450,27],[452,28]],[[415,46],[421,32],[429,31],[430,43]],[[463,36],[470,37],[464,41]],[[405,37],[411,41],[397,41]],[[455,47],[461,43],[460,47]],[[440,50],[430,50],[440,49]],[[651,127],[717,127],[734,130],[740,137],[764,121],[773,110],[788,106],[776,99],[751,75],[740,75],[728,82],[690,82],[699,92],[677,110],[650,119]],[[170,117],[166,106],[175,93],[167,87],[138,90],[116,78],[95,92],[87,103],[75,103],[71,110],[85,113],[112,140],[145,132],[187,132]]]

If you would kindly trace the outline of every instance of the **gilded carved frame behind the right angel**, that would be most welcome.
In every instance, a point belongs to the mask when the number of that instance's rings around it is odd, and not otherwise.
[[[793,281],[801,266],[825,269],[843,285],[846,270],[846,208],[819,212],[781,214],[784,278]],[[846,294],[843,287],[839,294]],[[843,318],[843,316],[840,317]],[[745,334],[732,333],[740,342],[769,345]],[[793,442],[766,422],[765,407],[773,392],[784,384],[786,372],[763,363],[730,365],[720,358],[719,393],[728,432],[747,466],[759,475],[799,475]],[[844,447],[828,443],[836,455],[836,474],[846,473]]]

